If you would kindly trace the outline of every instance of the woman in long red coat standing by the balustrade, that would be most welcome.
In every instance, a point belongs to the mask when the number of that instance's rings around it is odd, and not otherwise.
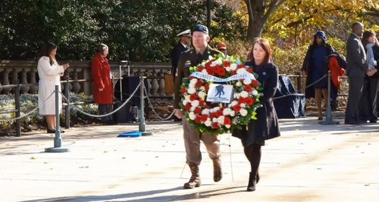
[[[112,73],[107,59],[108,51],[107,45],[99,44],[91,61],[93,99],[99,105],[101,115],[112,112],[113,104]],[[102,122],[107,125],[113,124],[112,115],[102,117]]]

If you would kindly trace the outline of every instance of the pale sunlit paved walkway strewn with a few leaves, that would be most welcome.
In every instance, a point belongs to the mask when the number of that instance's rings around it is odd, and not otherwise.
[[[117,137],[137,125],[71,128],[63,134],[70,152],[60,154],[44,153],[50,134],[0,137],[0,201],[378,201],[379,124],[317,123],[280,120],[282,136],[262,149],[255,192],[245,191],[250,165],[228,134],[223,179],[213,182],[202,147],[203,185],[191,190],[182,188],[191,172],[177,123],[148,123],[154,135],[140,138]]]

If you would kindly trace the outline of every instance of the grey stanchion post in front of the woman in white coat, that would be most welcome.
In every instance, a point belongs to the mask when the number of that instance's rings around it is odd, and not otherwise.
[[[54,147],[45,148],[45,152],[60,153],[69,151],[67,148],[62,148],[62,137],[59,126],[59,85],[55,85],[55,118],[57,128],[55,129]]]

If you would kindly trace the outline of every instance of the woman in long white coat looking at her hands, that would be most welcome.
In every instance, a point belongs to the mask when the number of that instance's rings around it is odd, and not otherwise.
[[[50,95],[54,92],[55,85],[58,85],[59,91],[61,91],[61,76],[69,67],[69,64],[58,65],[55,59],[56,54],[57,45],[50,42],[46,43],[41,50],[37,64],[39,76],[38,106],[46,100],[44,105],[39,107],[38,112],[40,115],[45,115],[46,123],[48,124],[48,133],[55,133],[56,129],[55,94]],[[62,108],[61,94],[59,94],[59,108]],[[59,110],[59,112],[61,112],[61,110]]]

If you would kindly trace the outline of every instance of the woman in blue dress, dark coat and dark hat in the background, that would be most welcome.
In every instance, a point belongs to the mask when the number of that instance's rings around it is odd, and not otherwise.
[[[309,46],[305,56],[302,73],[307,76],[306,85],[310,85],[328,72],[328,62],[326,57],[334,52],[333,47],[326,42],[326,35],[322,31],[317,31],[313,36],[313,44]],[[305,97],[314,97],[318,110],[318,120],[322,120],[322,97],[324,97],[325,106],[327,105],[327,77],[314,83],[311,87],[305,89]]]

